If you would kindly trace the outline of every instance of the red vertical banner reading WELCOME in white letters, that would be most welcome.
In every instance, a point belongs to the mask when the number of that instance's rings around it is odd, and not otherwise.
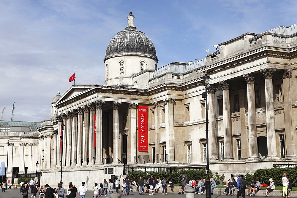
[[[138,151],[149,151],[148,142],[148,107],[138,106]]]

